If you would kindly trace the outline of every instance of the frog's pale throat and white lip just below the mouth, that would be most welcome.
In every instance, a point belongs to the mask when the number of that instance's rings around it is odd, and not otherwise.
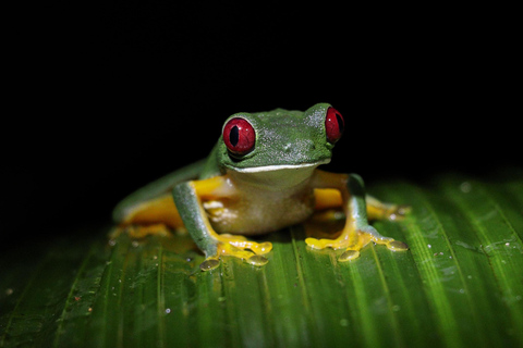
[[[312,177],[318,165],[327,164],[330,159],[301,164],[277,164],[253,167],[228,167],[228,175],[238,184],[263,187],[268,190],[281,190],[300,186]]]

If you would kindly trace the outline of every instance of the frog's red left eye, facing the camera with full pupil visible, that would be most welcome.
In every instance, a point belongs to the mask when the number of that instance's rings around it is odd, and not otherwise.
[[[223,141],[229,151],[235,154],[246,154],[254,149],[256,135],[254,128],[244,119],[234,117],[223,127]]]

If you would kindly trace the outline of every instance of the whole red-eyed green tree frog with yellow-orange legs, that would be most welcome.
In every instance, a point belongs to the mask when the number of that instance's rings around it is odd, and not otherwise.
[[[205,253],[200,269],[206,271],[226,256],[267,263],[264,254],[272,245],[245,236],[343,214],[344,226],[335,238],[309,237],[305,243],[312,249],[345,250],[340,261],[357,258],[369,241],[406,250],[404,243],[381,236],[368,224],[368,217],[401,217],[404,208],[366,196],[355,174],[317,169],[330,162],[344,128],[343,117],[328,103],[304,112],[233,114],[206,160],[145,186],[117,206],[115,234],[126,231],[139,238],[184,227]]]

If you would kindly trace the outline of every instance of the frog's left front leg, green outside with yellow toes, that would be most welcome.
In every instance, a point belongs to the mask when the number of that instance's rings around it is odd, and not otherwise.
[[[203,200],[231,198],[234,189],[227,187],[224,176],[180,184],[173,188],[174,203],[185,228],[205,253],[206,260],[199,265],[203,271],[216,269],[219,258],[232,256],[251,264],[264,265],[268,261],[263,254],[272,249],[270,243],[254,243],[241,235],[218,234],[212,228]]]

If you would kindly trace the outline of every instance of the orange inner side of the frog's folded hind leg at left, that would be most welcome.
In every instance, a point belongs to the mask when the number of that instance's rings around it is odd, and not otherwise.
[[[136,239],[148,235],[168,236],[171,229],[181,227],[182,219],[169,192],[130,207],[109,237],[114,239],[122,233]]]

